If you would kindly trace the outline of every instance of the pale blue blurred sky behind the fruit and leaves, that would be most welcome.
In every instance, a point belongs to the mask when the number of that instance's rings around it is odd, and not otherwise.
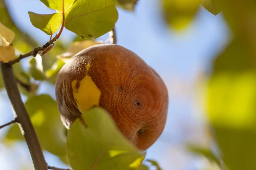
[[[37,37],[44,44],[49,36],[34,28],[29,21],[28,11],[49,14],[50,10],[40,0],[7,0],[12,17],[21,29]],[[197,170],[202,161],[187,153],[184,142],[202,142],[200,108],[195,104],[195,82],[198,75],[210,70],[210,63],[223,49],[229,39],[229,29],[221,14],[214,16],[201,8],[189,28],[182,33],[172,31],[162,18],[159,0],[140,0],[134,13],[119,9],[116,23],[117,44],[134,51],[154,68],[169,91],[169,113],[166,128],[159,140],[148,149],[147,157],[157,160],[164,170]],[[61,40],[70,42],[75,35],[64,30]],[[107,35],[101,37],[105,40]],[[55,98],[54,86],[44,83],[40,93]],[[11,105],[6,92],[0,92],[0,124],[12,119]],[[0,136],[7,129],[0,132]],[[6,148],[0,144],[0,169],[17,170],[18,164],[31,167],[26,144]],[[17,152],[23,155],[17,156]],[[46,153],[52,165],[63,166],[55,156]],[[12,159],[19,159],[15,165]]]

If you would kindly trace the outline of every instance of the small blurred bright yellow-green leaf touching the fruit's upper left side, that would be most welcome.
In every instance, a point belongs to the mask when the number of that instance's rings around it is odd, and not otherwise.
[[[55,62],[55,64],[52,65],[52,68],[50,68],[49,70],[47,70],[45,72],[45,75],[46,75],[49,82],[52,82],[53,84],[55,84],[58,72],[60,71],[60,69],[62,68],[62,66],[64,64],[65,64],[64,61],[62,61],[61,59],[58,59]]]

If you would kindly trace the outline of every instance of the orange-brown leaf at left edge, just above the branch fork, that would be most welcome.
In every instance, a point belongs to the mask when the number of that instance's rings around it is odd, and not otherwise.
[[[7,63],[15,59],[15,49],[13,45],[0,47],[0,62]]]

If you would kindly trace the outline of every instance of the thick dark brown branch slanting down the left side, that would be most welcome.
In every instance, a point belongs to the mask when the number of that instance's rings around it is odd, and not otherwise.
[[[44,159],[41,145],[38,137],[36,136],[35,129],[30,121],[25,105],[20,98],[20,91],[18,90],[12,65],[10,63],[4,64],[0,62],[0,67],[6,91],[12,103],[14,115],[18,117],[20,130],[22,131],[29,147],[29,152],[31,154],[35,170],[47,170],[48,166]]]

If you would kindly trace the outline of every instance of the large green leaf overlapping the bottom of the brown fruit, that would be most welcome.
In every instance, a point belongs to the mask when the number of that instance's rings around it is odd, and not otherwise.
[[[67,155],[73,170],[137,169],[145,158],[102,108],[93,108],[73,122],[67,133]]]

